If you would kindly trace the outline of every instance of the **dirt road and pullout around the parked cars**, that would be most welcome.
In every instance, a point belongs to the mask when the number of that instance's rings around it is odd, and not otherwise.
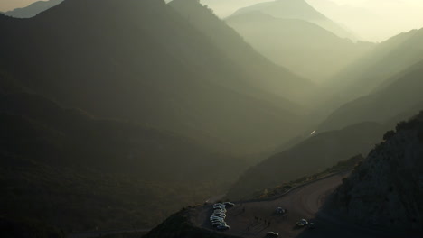
[[[348,173],[344,173],[316,181],[305,187],[297,188],[277,200],[250,202],[230,208],[226,217],[226,223],[230,225],[230,230],[225,233],[246,238],[265,237],[265,234],[270,231],[279,233],[279,237],[399,237],[342,222],[325,215],[320,210],[325,197],[332,193],[347,175]],[[275,215],[275,209],[279,206],[288,210],[286,217]],[[210,215],[211,206],[203,206],[193,217],[193,223],[211,230],[208,219]],[[255,217],[259,217],[259,220]],[[316,228],[313,230],[296,228],[296,221],[301,218],[314,221]]]

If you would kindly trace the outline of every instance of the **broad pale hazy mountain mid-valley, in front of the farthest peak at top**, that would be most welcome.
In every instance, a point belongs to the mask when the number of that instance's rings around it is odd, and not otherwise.
[[[374,47],[342,39],[315,23],[260,11],[235,14],[225,21],[268,59],[317,82],[333,77]]]

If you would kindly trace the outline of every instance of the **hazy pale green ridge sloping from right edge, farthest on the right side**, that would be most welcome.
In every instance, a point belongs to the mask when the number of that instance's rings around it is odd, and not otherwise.
[[[423,60],[423,29],[401,33],[378,44],[350,67],[327,81],[327,88],[343,100],[353,100],[378,90],[387,79]],[[392,81],[388,81],[392,82]]]

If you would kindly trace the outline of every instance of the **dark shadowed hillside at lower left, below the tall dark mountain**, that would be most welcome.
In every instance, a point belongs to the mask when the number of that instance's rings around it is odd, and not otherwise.
[[[67,233],[152,227],[246,168],[174,133],[31,94],[0,96],[0,131],[1,216]]]

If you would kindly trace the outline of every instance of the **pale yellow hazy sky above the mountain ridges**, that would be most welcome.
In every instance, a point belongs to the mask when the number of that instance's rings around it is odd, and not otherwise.
[[[37,0],[0,0],[0,11]],[[166,0],[168,1],[168,0]],[[201,0],[221,18],[240,7],[269,0]],[[306,0],[319,12],[355,32],[364,41],[384,41],[400,32],[423,27],[423,0]]]

